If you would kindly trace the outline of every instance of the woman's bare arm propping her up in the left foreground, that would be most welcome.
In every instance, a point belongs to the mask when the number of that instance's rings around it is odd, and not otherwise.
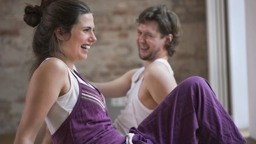
[[[67,67],[58,59],[41,65],[30,80],[14,144],[33,144],[45,117],[61,93],[69,90]]]

